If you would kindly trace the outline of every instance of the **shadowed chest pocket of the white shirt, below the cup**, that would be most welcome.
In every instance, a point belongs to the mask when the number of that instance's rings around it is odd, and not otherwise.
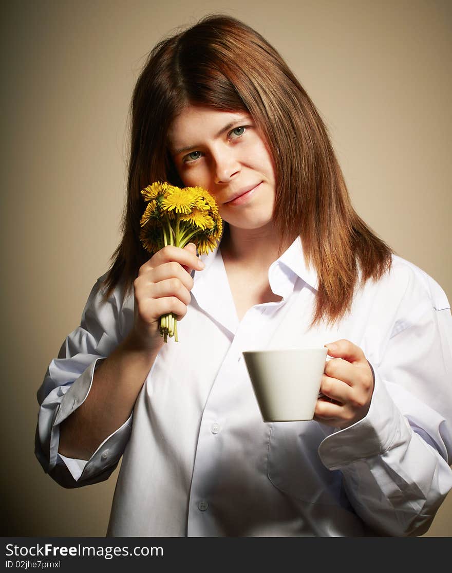
[[[272,423],[267,459],[269,480],[281,492],[309,503],[349,505],[339,470],[328,470],[317,450],[325,438],[319,423]]]

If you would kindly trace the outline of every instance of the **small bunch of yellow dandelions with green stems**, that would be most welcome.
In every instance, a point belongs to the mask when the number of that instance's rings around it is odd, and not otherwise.
[[[166,245],[183,248],[188,242],[196,245],[199,254],[215,249],[221,238],[223,222],[209,191],[202,187],[181,189],[157,181],[141,193],[147,205],[140,221],[140,241],[148,253],[154,254]],[[173,313],[160,318],[160,335],[164,342],[173,335],[179,342]]]

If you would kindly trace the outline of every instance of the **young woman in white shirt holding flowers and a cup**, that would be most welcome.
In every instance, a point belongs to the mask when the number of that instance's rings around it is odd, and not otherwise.
[[[158,180],[213,194],[213,253],[142,248]],[[452,487],[451,332],[442,289],[353,210],[276,50],[205,18],[137,81],[123,238],[38,391],[36,454],[65,487],[123,456],[112,536],[421,535]],[[313,421],[262,422],[242,351],[273,345],[328,347]]]

